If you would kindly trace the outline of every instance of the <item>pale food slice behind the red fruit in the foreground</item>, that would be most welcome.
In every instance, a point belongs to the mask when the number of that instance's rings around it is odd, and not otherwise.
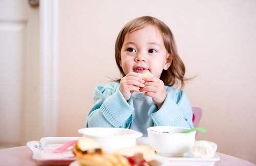
[[[156,156],[156,152],[154,151],[154,149],[145,145],[121,148],[116,150],[114,153],[126,157],[135,157],[137,155],[137,157],[144,158],[145,161],[154,160]]]

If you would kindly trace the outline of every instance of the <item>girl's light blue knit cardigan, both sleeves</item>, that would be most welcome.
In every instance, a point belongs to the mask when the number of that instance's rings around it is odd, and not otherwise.
[[[130,128],[133,120],[133,99],[126,101],[120,92],[120,83],[111,82],[95,88],[94,106],[88,113],[86,127]],[[158,110],[152,104],[148,115],[152,126],[179,126],[192,128],[192,110],[183,91],[165,86],[167,97]]]

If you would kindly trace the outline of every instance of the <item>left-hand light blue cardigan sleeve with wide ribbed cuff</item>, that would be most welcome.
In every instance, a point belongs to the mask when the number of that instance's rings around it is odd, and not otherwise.
[[[131,101],[126,101],[118,87],[97,86],[94,106],[88,113],[86,127],[129,128],[134,111]]]

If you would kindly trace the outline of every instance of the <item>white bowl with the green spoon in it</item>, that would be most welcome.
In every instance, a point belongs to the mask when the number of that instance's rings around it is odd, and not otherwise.
[[[196,131],[182,133],[187,129],[189,128],[171,126],[149,127],[147,128],[148,143],[159,155],[181,157],[195,143]]]

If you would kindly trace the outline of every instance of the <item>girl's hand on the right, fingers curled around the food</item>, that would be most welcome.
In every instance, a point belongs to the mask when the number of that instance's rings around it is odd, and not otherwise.
[[[145,96],[152,97],[153,102],[160,109],[167,96],[163,81],[156,77],[145,78],[144,81],[145,87],[141,88],[140,91],[144,91]]]

